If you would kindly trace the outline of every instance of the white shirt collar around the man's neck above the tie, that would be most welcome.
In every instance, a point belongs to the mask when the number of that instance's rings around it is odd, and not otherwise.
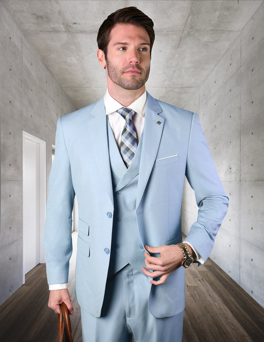
[[[136,99],[133,103],[129,105],[130,109],[133,109],[135,112],[139,113],[142,117],[145,116],[145,106],[147,100],[147,91],[145,90],[139,98]],[[122,104],[117,102],[106,89],[106,93],[104,96],[104,102],[106,107],[106,115],[117,111],[120,108],[123,108]]]

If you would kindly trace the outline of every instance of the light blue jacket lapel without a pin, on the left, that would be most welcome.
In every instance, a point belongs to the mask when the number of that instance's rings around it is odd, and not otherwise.
[[[91,146],[94,150],[97,167],[102,177],[102,182],[105,183],[107,193],[111,202],[113,203],[112,179],[107,139],[107,117],[104,98],[96,102],[91,111],[90,120],[88,122],[88,132]]]

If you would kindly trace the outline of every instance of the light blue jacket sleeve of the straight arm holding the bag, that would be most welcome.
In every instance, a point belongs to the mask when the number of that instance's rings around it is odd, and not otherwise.
[[[55,157],[49,179],[49,197],[44,233],[49,284],[68,281],[72,254],[71,226],[74,189],[63,136],[62,119],[57,121]]]

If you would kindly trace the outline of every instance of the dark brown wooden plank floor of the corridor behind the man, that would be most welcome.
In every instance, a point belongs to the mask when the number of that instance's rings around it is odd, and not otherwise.
[[[73,341],[81,342],[74,263],[73,258],[69,291],[75,314],[71,323]],[[48,308],[48,298],[45,264],[39,264],[26,275],[25,284],[0,306],[0,342],[57,342],[57,315]],[[264,309],[209,259],[203,266],[186,270],[182,341],[264,342]]]

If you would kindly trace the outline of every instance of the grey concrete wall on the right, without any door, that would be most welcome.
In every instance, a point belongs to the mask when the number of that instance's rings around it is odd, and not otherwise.
[[[188,109],[199,113],[230,199],[211,258],[264,306],[264,3],[199,88]],[[186,183],[183,231],[196,221]]]

